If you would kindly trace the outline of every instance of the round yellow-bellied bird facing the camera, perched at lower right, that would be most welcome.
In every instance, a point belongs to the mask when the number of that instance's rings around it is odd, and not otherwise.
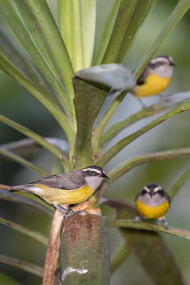
[[[164,222],[164,227],[168,227],[167,222],[164,221],[164,215],[170,207],[170,198],[160,185],[152,183],[144,186],[134,202],[139,212],[134,222],[142,219],[159,219]]]

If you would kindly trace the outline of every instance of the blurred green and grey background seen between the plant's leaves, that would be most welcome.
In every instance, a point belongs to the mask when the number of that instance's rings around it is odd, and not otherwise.
[[[56,16],[56,1],[49,0],[48,2]],[[149,48],[154,41],[155,36],[162,28],[165,19],[167,19],[167,16],[170,14],[171,9],[174,8],[176,2],[177,1],[174,0],[157,1],[154,9],[149,12],[142,27],[139,29],[130,53],[127,58],[125,58],[125,67],[133,70],[137,66],[145,51],[147,51],[147,48]],[[97,41],[112,3],[113,1],[110,0],[97,1]],[[164,93],[177,93],[190,89],[189,28],[190,13],[187,13],[179,25],[176,26],[174,31],[164,41],[161,48],[159,48],[159,51],[157,51],[157,55],[167,54],[172,56],[176,63],[173,81]],[[40,135],[63,138],[63,133],[56,121],[22,86],[19,86],[3,73],[0,73],[0,86],[0,113],[2,115],[6,115],[8,118],[15,120],[22,125],[26,125],[26,127]],[[144,103],[149,105],[157,100],[158,98],[146,98],[144,99]],[[110,98],[107,98],[103,109],[106,108],[109,101]],[[137,112],[140,108],[141,106],[138,101],[132,95],[127,95],[120,105],[120,108],[115,112],[112,120],[110,120],[108,126]],[[150,120],[153,120],[153,118],[144,119],[141,122],[132,125],[132,127],[127,128],[127,130],[123,130],[122,133],[115,138],[115,141],[132,133],[134,130],[141,128]],[[135,140],[131,145],[122,150],[120,154],[107,165],[106,170],[110,170],[112,167],[120,164],[120,162],[124,160],[124,157],[127,159],[147,152],[169,150],[174,147],[188,147],[190,145],[189,121],[190,113],[182,113],[181,115],[168,120],[166,123],[159,125],[157,128],[149,131],[149,133]],[[24,138],[23,135],[16,132],[16,130],[0,123],[0,145],[21,138]],[[41,152],[41,155],[34,157],[32,162],[46,168],[46,170],[50,172],[58,171],[56,170],[57,162],[53,160],[53,157],[49,152]],[[137,192],[149,182],[157,182],[162,185],[165,190],[168,190],[187,166],[189,166],[189,159],[184,158],[151,162],[139,166],[108,187],[105,191],[105,197],[133,202]],[[25,170],[14,162],[1,160],[0,158],[1,184],[19,185],[26,182],[32,182],[36,179],[38,179],[38,175],[35,173]],[[169,209],[169,213],[167,214],[167,221],[169,224],[174,227],[190,230],[189,201],[189,183],[186,182],[186,185],[181,188],[181,191],[171,202],[171,209]],[[102,214],[108,216],[109,219],[114,217],[114,212],[110,211],[108,207],[102,207]],[[28,227],[46,235],[48,235],[51,227],[51,219],[45,214],[30,207],[5,202],[3,200],[0,200],[0,217],[10,219],[13,222],[23,225],[23,227]],[[110,249],[111,252],[113,252],[120,242],[121,237],[117,229],[110,229],[109,236]],[[190,284],[189,241],[178,237],[167,236],[166,234],[163,235],[163,237],[171,249],[171,252],[173,252],[176,263],[184,274],[186,284]],[[12,229],[6,228],[1,224],[0,238],[1,254],[6,254],[43,266],[46,254],[45,246],[33,241],[33,239],[26,237],[23,234],[19,234]],[[13,267],[0,264],[0,271],[13,276],[19,284],[41,284],[40,278],[33,276],[32,274],[27,274],[19,269],[14,269]],[[129,255],[120,269],[113,274],[112,284],[126,284],[126,280],[128,280],[127,284],[130,285],[152,284],[152,281],[148,279],[144,269],[138,261],[134,259],[132,254]]]

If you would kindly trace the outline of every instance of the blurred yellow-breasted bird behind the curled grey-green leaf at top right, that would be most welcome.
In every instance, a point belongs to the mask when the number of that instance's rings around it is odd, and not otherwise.
[[[133,90],[134,95],[142,98],[161,93],[169,86],[174,66],[171,56],[153,58],[137,79],[137,85]]]

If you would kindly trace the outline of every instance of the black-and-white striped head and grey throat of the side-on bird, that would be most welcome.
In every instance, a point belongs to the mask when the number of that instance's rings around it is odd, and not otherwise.
[[[85,167],[81,170],[83,177],[85,178],[86,184],[89,185],[93,190],[96,190],[100,186],[102,180],[107,178],[105,170],[97,165]]]

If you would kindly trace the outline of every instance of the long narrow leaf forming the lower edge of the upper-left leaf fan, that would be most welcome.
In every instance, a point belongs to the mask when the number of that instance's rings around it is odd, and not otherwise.
[[[53,100],[51,100],[49,97],[45,97],[41,92],[36,89],[33,84],[31,84],[26,78],[24,78],[21,73],[16,71],[15,68],[13,68],[8,61],[5,61],[4,58],[0,56],[0,66],[4,66],[6,70],[9,71],[9,74],[11,77],[13,77],[16,81],[21,83],[21,85],[26,88],[29,92],[31,92],[34,97],[36,97],[37,100],[41,102],[41,104],[53,115],[53,117],[57,120],[60,127],[63,128],[63,131],[65,132],[65,135],[68,138],[68,142],[70,144],[70,147],[72,148],[75,142],[75,133],[73,130],[73,127],[68,122],[68,118],[64,115],[62,110],[58,108],[58,105],[56,105]]]

